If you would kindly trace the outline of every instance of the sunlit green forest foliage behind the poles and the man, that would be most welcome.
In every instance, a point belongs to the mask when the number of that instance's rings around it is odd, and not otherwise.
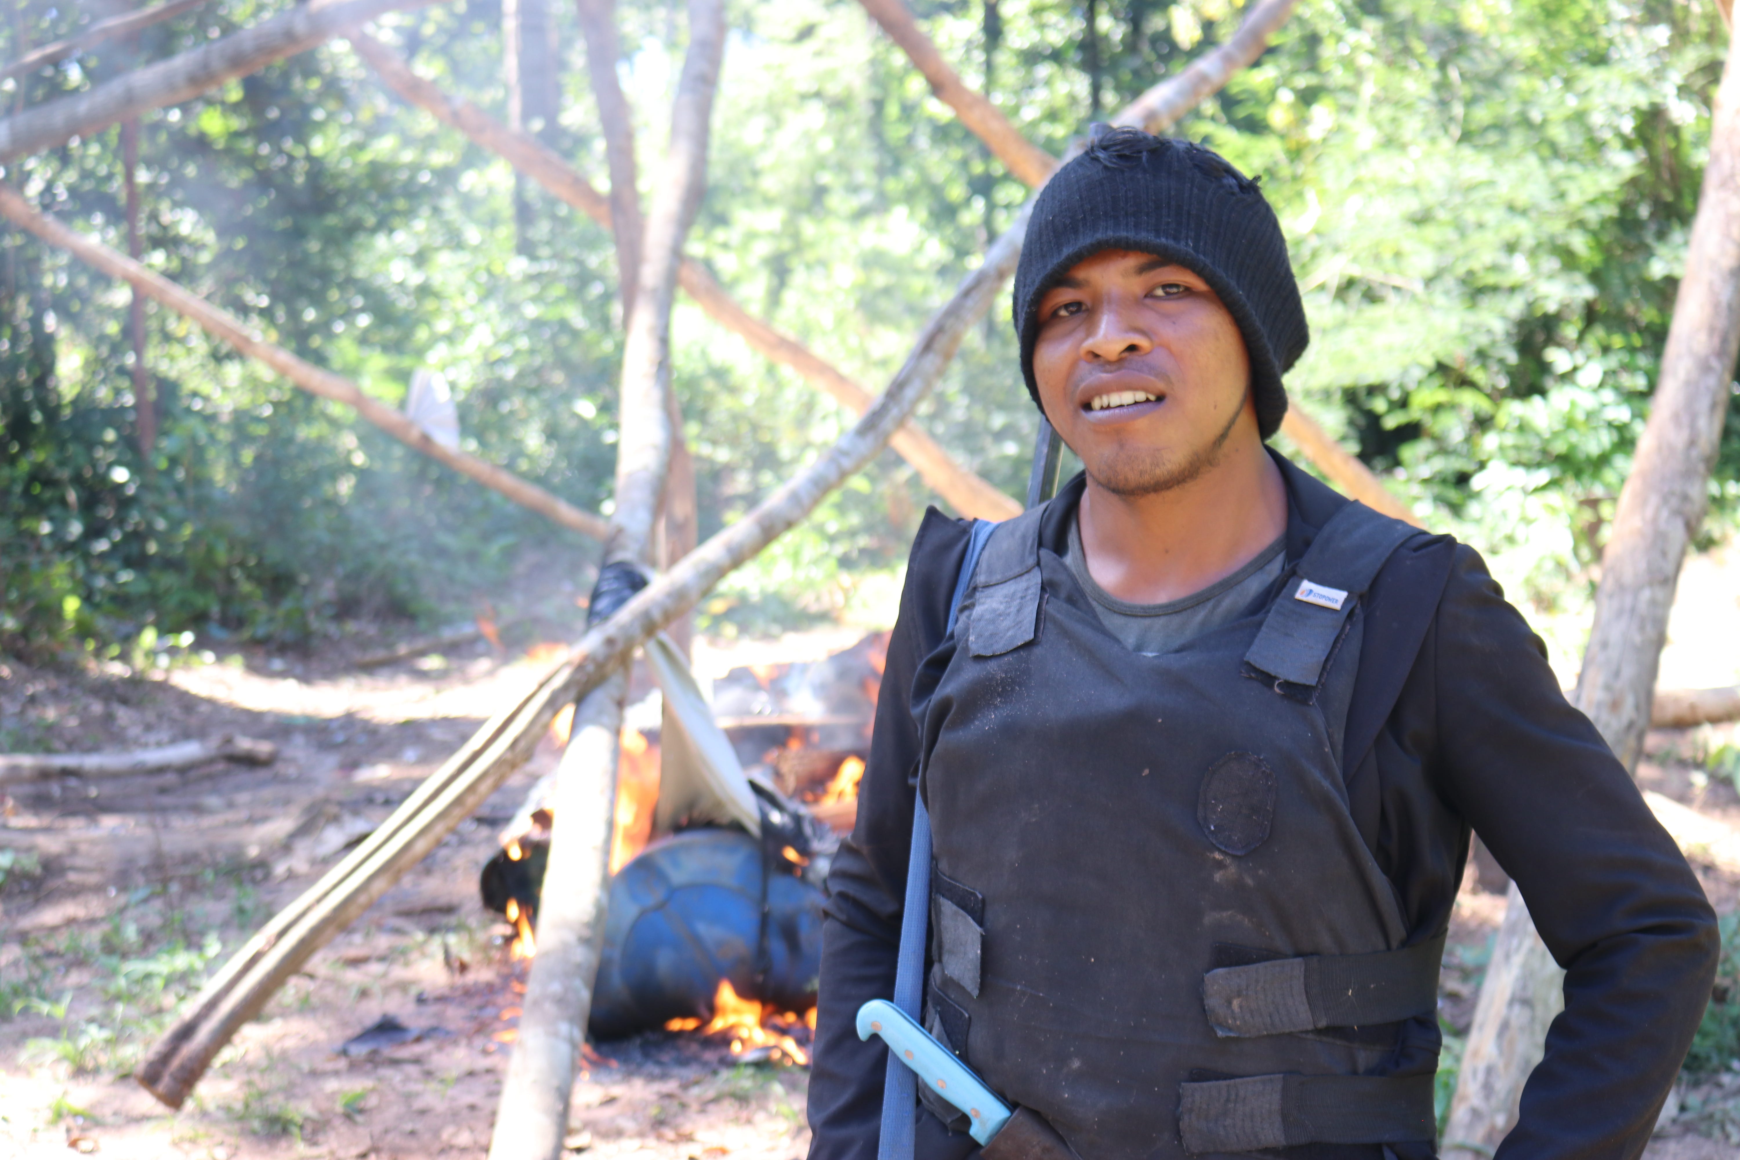
[[[0,103],[82,90],[285,7],[212,0],[7,78]],[[574,14],[548,7],[559,113],[529,129],[604,184]],[[1241,16],[1235,0],[912,7],[1053,153]],[[23,0],[0,56],[90,17]],[[680,17],[672,0],[621,3],[646,141],[668,123]],[[381,31],[499,113],[501,28],[498,0],[463,0]],[[1027,190],[858,3],[736,3],[731,28],[689,254],[752,311],[884,383]],[[1174,129],[1260,176],[1281,217],[1314,334],[1293,397],[1429,525],[1488,555],[1549,626],[1566,678],[1667,337],[1724,43],[1702,2],[1303,0],[1262,61]],[[122,172],[110,129],[5,177],[125,250]],[[404,400],[412,372],[440,372],[466,450],[609,511],[611,237],[404,106],[345,42],[148,113],[139,184],[148,266],[385,402]],[[920,419],[1020,496],[1037,416],[1002,303]],[[141,454],[127,310],[124,285],[0,233],[0,652],[167,663],[218,640],[313,647],[360,619],[470,616],[527,546],[539,567],[590,567],[590,541],[157,308],[158,431]],[[686,299],[673,383],[703,539],[851,423]],[[1740,518],[1740,423],[1726,431],[1705,543]],[[927,503],[886,452],[729,577],[701,628],[891,616]]]

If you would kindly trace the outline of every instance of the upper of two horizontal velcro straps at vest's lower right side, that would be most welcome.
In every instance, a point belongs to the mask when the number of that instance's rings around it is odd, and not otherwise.
[[[1308,955],[1202,976],[1202,1007],[1221,1037],[1361,1028],[1437,1009],[1444,939],[1375,955]]]

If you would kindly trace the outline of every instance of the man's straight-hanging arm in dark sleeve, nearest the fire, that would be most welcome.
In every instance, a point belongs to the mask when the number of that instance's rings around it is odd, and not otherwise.
[[[912,543],[900,619],[887,647],[870,760],[858,790],[858,823],[828,873],[809,1071],[811,1160],[875,1160],[887,1049],[861,1042],[858,1007],[894,993],[894,957],[912,854],[912,776],[919,727],[912,682],[943,638],[948,598],[967,550],[967,525],[926,513]]]

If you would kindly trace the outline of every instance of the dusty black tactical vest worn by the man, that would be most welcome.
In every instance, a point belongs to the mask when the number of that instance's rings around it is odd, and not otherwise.
[[[992,534],[915,703],[927,1028],[1082,1160],[1432,1141],[1432,1077],[1383,1071],[1442,939],[1402,948],[1342,777],[1361,595],[1416,529],[1350,503],[1267,609],[1141,656],[1042,511]]]

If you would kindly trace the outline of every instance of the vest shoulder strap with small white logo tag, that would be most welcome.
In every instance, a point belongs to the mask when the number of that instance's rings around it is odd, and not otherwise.
[[[1281,590],[1244,659],[1293,685],[1315,685],[1354,605],[1404,541],[1423,532],[1359,501],[1336,511]]]

